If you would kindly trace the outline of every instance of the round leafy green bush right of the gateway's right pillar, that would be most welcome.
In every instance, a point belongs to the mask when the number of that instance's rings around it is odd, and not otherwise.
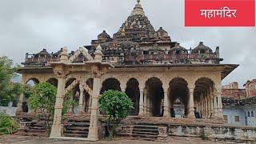
[[[127,118],[134,103],[126,93],[107,90],[99,99],[99,110],[104,115],[109,138],[114,137],[115,128],[120,124],[122,119]]]

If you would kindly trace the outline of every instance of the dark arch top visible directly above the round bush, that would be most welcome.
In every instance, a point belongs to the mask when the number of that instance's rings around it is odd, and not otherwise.
[[[101,94],[106,90],[118,90],[121,91],[120,82],[117,78],[106,78],[104,82],[102,82],[102,90]]]

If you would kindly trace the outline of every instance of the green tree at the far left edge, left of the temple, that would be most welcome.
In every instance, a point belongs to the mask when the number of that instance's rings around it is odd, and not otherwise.
[[[13,66],[13,61],[6,56],[0,57],[0,106],[7,106],[9,102],[16,102],[18,95],[22,93],[19,83],[11,82],[16,78],[19,66]]]

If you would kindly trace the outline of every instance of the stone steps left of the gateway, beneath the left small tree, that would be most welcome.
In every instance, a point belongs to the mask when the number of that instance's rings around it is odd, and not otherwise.
[[[15,135],[48,137],[44,122],[20,122],[22,127]]]

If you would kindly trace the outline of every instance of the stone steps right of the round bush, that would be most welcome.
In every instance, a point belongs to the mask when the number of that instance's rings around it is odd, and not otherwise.
[[[131,134],[132,139],[155,141],[158,138],[158,126],[148,123],[140,123],[134,126],[134,130]]]

